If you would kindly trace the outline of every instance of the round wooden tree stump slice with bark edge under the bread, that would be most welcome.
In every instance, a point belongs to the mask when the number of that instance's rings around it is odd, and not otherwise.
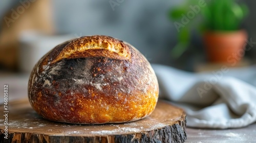
[[[28,100],[8,104],[8,139],[1,116],[0,142],[184,142],[185,112],[159,101],[154,112],[139,121],[122,124],[75,125],[45,120]],[[4,105],[0,106],[4,113]]]

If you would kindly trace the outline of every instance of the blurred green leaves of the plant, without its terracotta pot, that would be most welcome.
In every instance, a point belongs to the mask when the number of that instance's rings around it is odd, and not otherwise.
[[[178,43],[171,53],[173,58],[180,57],[187,50],[190,44],[190,32],[195,27],[198,27],[200,32],[236,31],[239,30],[242,20],[248,14],[247,6],[238,4],[236,0],[211,0],[201,5],[199,1],[187,0],[180,7],[169,11],[169,17],[175,21],[179,32]],[[184,20],[182,22],[182,18],[186,19],[185,23]]]

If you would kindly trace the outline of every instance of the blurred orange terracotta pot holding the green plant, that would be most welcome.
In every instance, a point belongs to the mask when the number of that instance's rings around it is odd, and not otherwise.
[[[238,63],[244,56],[247,33],[245,30],[233,32],[206,32],[204,43],[210,62]]]

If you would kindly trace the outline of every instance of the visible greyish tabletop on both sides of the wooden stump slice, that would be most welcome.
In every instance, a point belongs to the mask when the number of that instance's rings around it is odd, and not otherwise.
[[[27,97],[27,81],[28,75],[22,76],[6,76],[0,74],[1,85],[9,84],[12,95],[10,99],[17,100]],[[3,88],[0,88],[3,93]],[[3,103],[3,98],[0,99],[0,104]],[[187,140],[185,142],[256,142],[256,123],[240,128],[227,130],[212,130],[212,129],[194,129],[186,128]],[[1,142],[1,140],[0,140]]]

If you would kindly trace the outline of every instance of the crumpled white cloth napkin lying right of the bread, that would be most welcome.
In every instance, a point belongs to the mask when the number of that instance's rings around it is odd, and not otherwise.
[[[194,74],[152,65],[160,98],[183,108],[187,126],[239,128],[256,122],[256,65]]]

